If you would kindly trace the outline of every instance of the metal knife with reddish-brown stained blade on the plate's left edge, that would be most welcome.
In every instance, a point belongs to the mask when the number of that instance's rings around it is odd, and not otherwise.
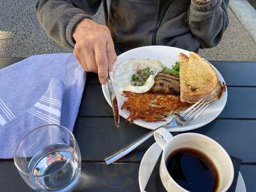
[[[108,92],[109,92],[109,98],[111,100],[111,105],[112,105],[112,109],[113,109],[115,126],[119,127],[120,118],[119,118],[119,111],[118,111],[118,105],[117,105],[117,100],[116,100],[116,93],[115,93],[115,90],[113,88],[113,83],[110,79],[109,74],[108,74]]]

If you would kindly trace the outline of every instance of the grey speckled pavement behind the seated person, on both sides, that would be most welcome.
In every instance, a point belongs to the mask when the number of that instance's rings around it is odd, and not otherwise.
[[[35,0],[0,0],[0,57],[70,52],[53,42],[36,20]],[[212,49],[200,50],[207,60],[256,61],[256,43],[236,15],[229,10],[230,25],[221,43]],[[103,22],[102,8],[93,17]]]

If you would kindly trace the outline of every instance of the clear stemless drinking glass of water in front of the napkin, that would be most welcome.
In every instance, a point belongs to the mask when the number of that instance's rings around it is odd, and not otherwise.
[[[72,132],[61,125],[43,125],[18,144],[14,163],[36,191],[72,191],[81,173],[81,154]]]

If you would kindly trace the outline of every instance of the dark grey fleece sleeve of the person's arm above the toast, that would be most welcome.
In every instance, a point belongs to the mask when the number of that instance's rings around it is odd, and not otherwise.
[[[189,29],[200,42],[200,48],[216,46],[228,26],[229,0],[211,0],[207,4],[191,1],[188,12]]]

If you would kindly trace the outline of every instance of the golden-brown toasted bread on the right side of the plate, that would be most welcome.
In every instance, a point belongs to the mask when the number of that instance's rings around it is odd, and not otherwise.
[[[195,52],[180,53],[180,100],[195,103],[200,99],[218,99],[221,84],[211,65]]]

